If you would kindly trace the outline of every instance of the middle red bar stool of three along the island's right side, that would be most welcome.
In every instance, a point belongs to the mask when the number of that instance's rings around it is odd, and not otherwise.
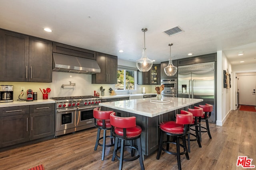
[[[194,109],[189,108],[188,111],[193,114],[193,120],[190,124],[190,130],[196,131],[196,135],[188,133],[188,152],[190,152],[190,141],[197,141],[198,146],[202,148],[199,131],[201,132],[201,117],[203,116],[203,109],[201,107],[194,106]],[[192,129],[191,127],[195,127],[195,129]],[[190,139],[190,135],[193,135],[196,138]]]

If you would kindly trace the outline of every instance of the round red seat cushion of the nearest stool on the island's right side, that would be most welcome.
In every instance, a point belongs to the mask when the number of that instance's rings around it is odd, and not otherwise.
[[[184,133],[184,125],[175,121],[164,121],[160,123],[160,129],[167,133],[182,134]]]

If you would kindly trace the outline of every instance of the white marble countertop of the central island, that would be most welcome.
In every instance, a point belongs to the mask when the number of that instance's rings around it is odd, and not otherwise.
[[[188,99],[188,98],[172,98],[163,97],[162,100],[170,100],[170,102],[152,102],[150,100],[156,100],[156,98],[144,98],[133,100],[122,100],[116,102],[100,103],[100,106],[109,107],[112,109],[118,109],[143,115],[147,117],[155,117],[182,107],[190,106],[202,102],[202,99]]]

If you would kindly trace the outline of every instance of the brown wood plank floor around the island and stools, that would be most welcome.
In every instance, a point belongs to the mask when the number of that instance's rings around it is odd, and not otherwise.
[[[238,156],[248,156],[256,165],[256,112],[232,111],[224,125],[210,123],[212,139],[202,134],[202,148],[191,142],[190,160],[182,155],[183,170],[236,170]],[[115,170],[118,160],[111,161],[113,147],[94,151],[96,128],[64,135],[41,143],[0,152],[0,170],[27,170],[43,164],[45,170]],[[146,170],[178,169],[176,156],[156,153],[144,160]],[[124,162],[123,169],[139,170],[138,160]]]

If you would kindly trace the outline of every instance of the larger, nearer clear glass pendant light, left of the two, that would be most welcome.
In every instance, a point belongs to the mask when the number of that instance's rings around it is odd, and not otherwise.
[[[150,60],[146,56],[145,32],[148,31],[148,29],[142,28],[141,30],[144,32],[144,49],[142,51],[142,57],[136,61],[136,66],[141,72],[148,72],[151,69],[154,60]]]

